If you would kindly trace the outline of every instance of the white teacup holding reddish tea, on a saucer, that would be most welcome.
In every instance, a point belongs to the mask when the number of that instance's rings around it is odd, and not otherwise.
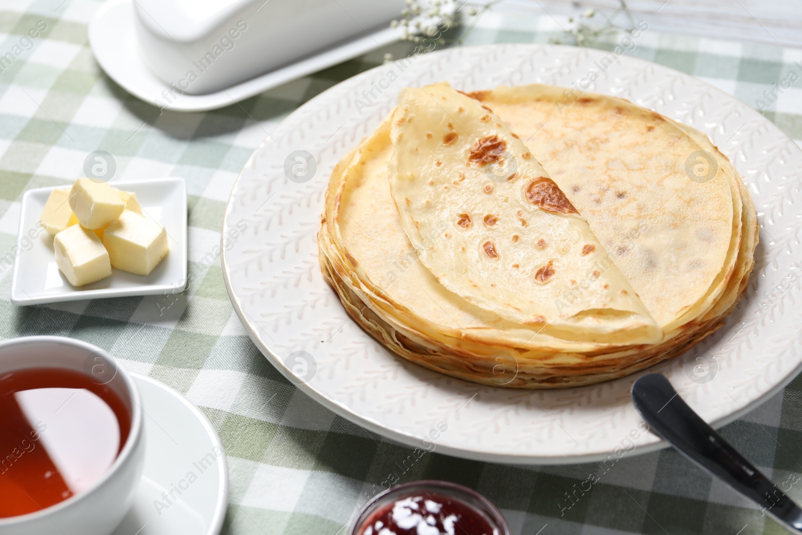
[[[111,466],[90,488],[64,501],[18,517],[0,518],[3,535],[108,535],[131,508],[144,465],[142,403],[132,378],[110,355],[86,342],[31,336],[0,342],[0,377],[36,367],[79,371],[102,383],[131,416],[128,439]]]

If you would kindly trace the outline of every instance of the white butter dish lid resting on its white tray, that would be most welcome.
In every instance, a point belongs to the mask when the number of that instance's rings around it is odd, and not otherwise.
[[[137,0],[136,36],[153,73],[203,95],[386,28],[403,0]]]

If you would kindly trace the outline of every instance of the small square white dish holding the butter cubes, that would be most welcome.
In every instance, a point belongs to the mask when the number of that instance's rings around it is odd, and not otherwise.
[[[184,180],[156,178],[110,184],[136,193],[143,213],[164,225],[170,245],[168,255],[146,276],[112,269],[111,277],[87,286],[71,286],[55,263],[53,236],[38,225],[47,197],[55,188],[30,189],[22,196],[17,245],[13,249],[10,298],[14,305],[177,294],[184,290],[187,282],[187,186]]]

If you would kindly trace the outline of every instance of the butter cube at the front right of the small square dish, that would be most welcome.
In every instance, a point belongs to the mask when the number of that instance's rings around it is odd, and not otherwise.
[[[169,251],[164,227],[131,210],[108,225],[103,245],[113,267],[137,275],[149,274]]]

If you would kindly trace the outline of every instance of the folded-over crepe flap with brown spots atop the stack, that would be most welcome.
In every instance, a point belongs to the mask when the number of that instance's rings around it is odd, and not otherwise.
[[[476,100],[442,84],[407,88],[391,140],[401,224],[448,290],[560,338],[662,337],[584,218],[525,144]],[[492,175],[502,158],[508,173]],[[572,292],[581,299],[566,301]]]

